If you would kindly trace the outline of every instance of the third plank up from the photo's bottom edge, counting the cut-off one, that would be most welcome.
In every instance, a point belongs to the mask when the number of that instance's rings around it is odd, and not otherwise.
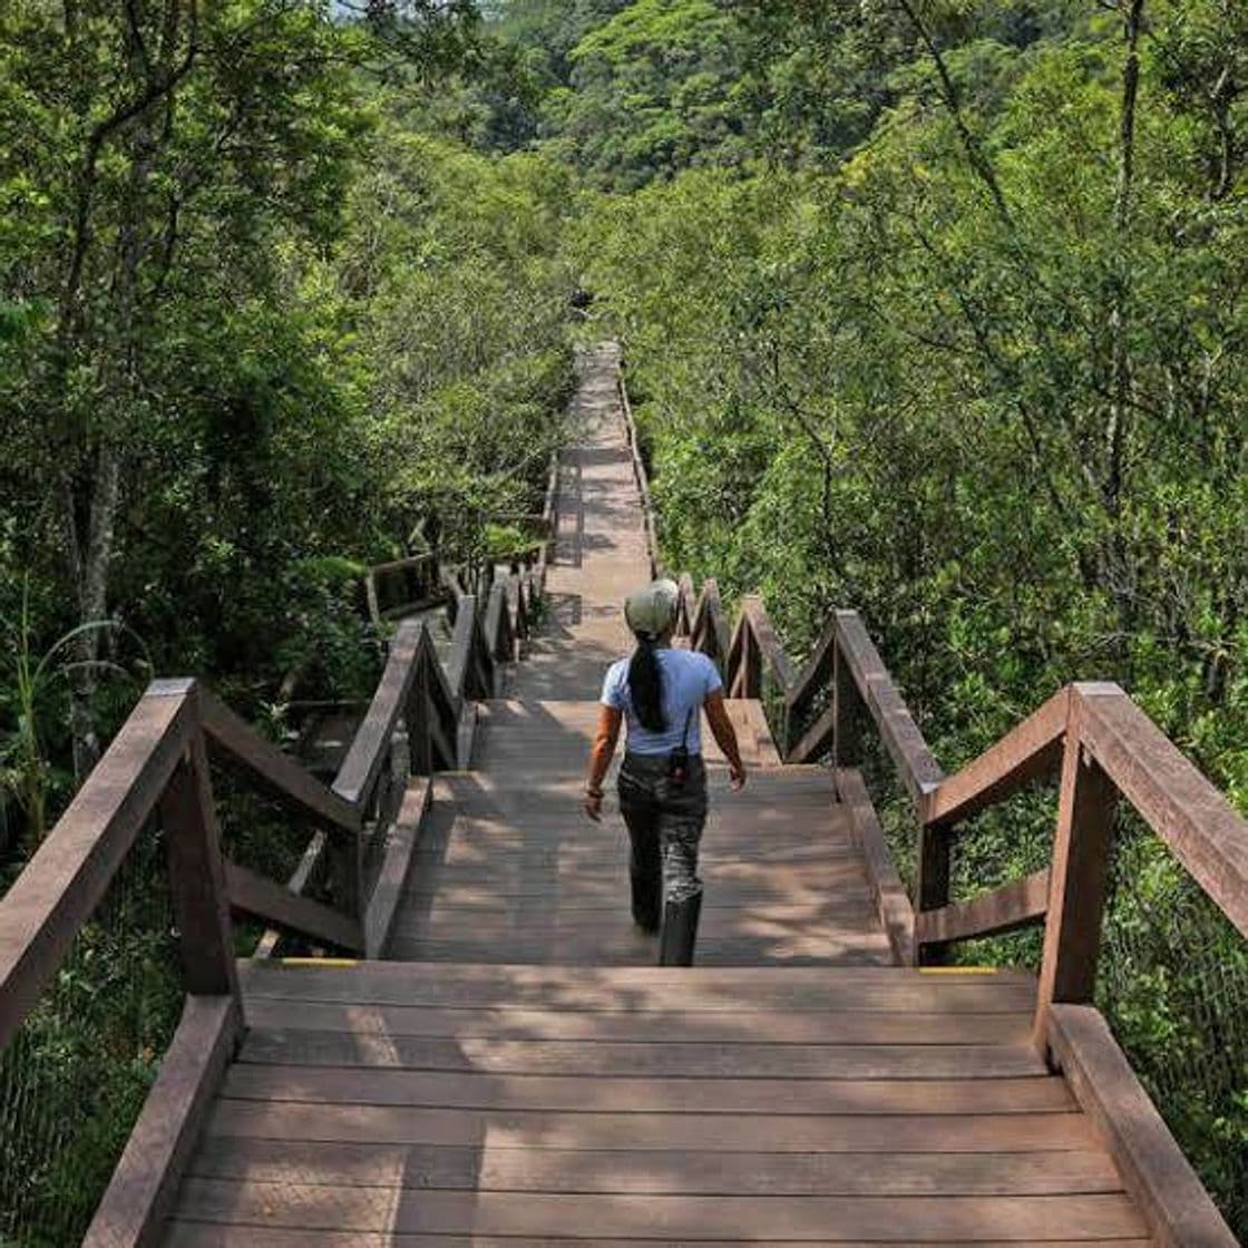
[[[461,1192],[630,1196],[1047,1196],[1121,1192],[1102,1149],[1053,1153],[764,1153],[205,1141],[200,1178]]]

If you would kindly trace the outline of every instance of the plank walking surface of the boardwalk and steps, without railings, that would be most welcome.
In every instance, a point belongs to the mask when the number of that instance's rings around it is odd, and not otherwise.
[[[829,773],[780,766],[756,703],[745,792],[711,759],[699,965],[653,966],[618,816],[578,807],[648,577],[614,366],[575,407],[547,629],[436,780],[389,960],[242,967],[167,1243],[1143,1248],[1035,981],[891,965]]]

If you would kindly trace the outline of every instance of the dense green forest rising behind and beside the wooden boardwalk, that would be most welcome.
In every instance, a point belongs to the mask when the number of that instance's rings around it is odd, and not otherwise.
[[[670,568],[795,654],[857,608],[947,768],[1116,679],[1248,811],[1246,170],[1241,0],[9,0],[5,870],[152,673],[366,691],[361,568],[527,510],[603,337]],[[1243,1233],[1248,955],[1118,877],[1114,1028]]]

